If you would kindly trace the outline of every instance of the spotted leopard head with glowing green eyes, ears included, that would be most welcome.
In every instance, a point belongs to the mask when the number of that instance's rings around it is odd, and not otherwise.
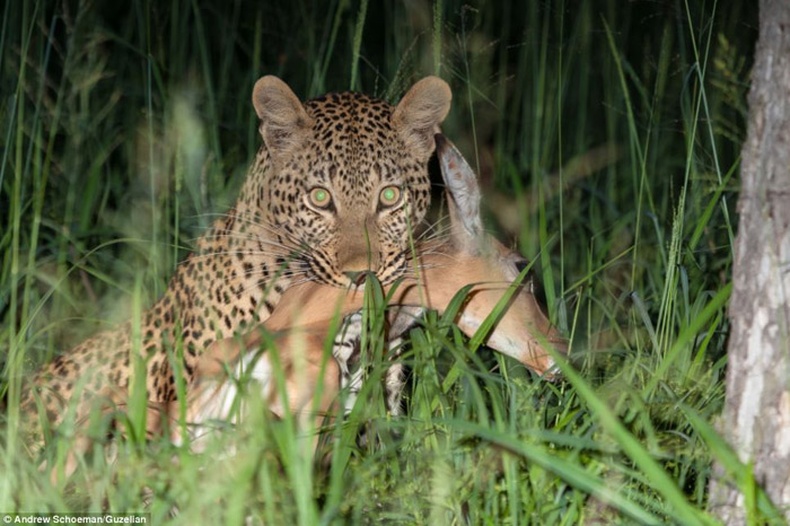
[[[417,82],[397,106],[359,93],[302,103],[280,79],[253,90],[268,166],[258,213],[290,247],[302,279],[383,283],[406,269],[410,231],[430,204],[428,161],[450,109],[443,80]]]

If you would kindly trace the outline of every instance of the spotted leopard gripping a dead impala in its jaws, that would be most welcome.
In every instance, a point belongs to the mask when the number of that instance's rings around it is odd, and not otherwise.
[[[140,368],[148,404],[171,404],[208,346],[265,321],[295,284],[403,276],[430,206],[428,163],[451,99],[435,76],[397,105],[353,91],[302,102],[281,79],[259,79],[252,103],[262,142],[235,205],[138,321],[90,337],[34,375],[21,403],[31,452],[67,409],[79,423],[123,407]]]

